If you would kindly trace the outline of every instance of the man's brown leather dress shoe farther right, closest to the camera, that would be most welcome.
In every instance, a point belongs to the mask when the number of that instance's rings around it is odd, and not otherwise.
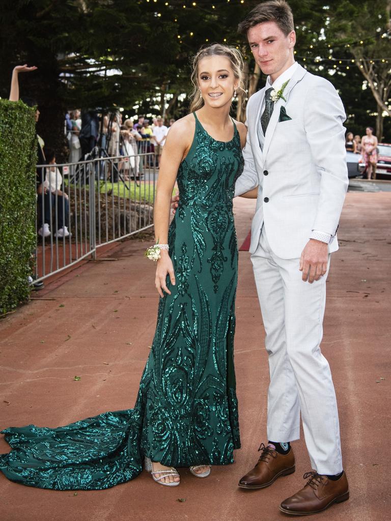
[[[326,510],[334,503],[349,499],[349,485],[344,474],[332,481],[316,472],[307,472],[304,479],[310,478],[304,488],[280,504],[279,510],[285,514],[305,516]]]

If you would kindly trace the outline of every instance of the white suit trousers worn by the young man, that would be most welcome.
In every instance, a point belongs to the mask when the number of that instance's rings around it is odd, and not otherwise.
[[[337,402],[331,371],[320,350],[327,273],[303,282],[299,259],[274,255],[263,227],[251,255],[266,331],[270,368],[267,437],[288,442],[300,437],[300,413],[312,468],[342,471]]]

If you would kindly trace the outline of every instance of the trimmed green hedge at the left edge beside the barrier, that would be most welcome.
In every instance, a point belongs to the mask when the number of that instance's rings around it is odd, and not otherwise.
[[[0,315],[28,299],[35,247],[33,108],[0,99]]]

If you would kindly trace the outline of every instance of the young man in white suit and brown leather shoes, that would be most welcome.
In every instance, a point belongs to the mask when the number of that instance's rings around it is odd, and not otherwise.
[[[346,117],[333,85],[295,62],[284,0],[256,6],[239,31],[267,75],[247,105],[245,169],[235,195],[258,187],[250,253],[271,378],[269,441],[239,486],[264,488],[295,472],[290,442],[299,438],[301,414],[313,472],[280,510],[314,514],[349,497],[335,391],[320,350],[326,277],[348,186]]]

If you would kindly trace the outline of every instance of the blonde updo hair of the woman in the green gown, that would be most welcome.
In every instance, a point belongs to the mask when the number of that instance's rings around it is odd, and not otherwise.
[[[209,56],[226,56],[230,63],[231,68],[234,72],[235,78],[238,80],[238,89],[243,89],[243,58],[237,48],[231,47],[229,45],[221,45],[219,43],[214,43],[213,45],[209,45],[207,47],[202,47],[196,55],[193,56],[191,60],[191,83],[193,84],[193,90],[189,94],[189,99],[191,100],[190,104],[190,112],[194,112],[199,108],[203,107],[204,100],[198,94],[198,64],[202,58],[207,58]]]

